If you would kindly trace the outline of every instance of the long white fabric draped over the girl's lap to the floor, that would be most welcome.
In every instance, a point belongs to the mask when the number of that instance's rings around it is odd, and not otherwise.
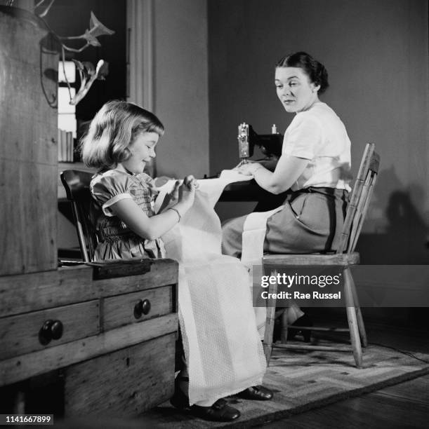
[[[191,404],[260,384],[265,374],[248,273],[238,259],[221,254],[220,220],[213,210],[226,184],[250,178],[226,172],[199,181],[191,210],[162,237],[167,257],[179,261],[179,320]],[[160,189],[156,208],[174,182]]]

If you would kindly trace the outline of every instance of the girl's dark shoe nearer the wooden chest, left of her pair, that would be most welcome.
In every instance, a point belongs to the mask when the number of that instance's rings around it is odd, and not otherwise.
[[[233,407],[230,407],[227,402],[223,399],[217,400],[211,407],[200,407],[199,405],[189,404],[189,398],[179,387],[180,381],[187,381],[184,377],[176,377],[174,382],[174,395],[170,399],[171,405],[177,409],[187,409],[190,414],[204,420],[210,421],[232,421],[239,418],[240,411]]]

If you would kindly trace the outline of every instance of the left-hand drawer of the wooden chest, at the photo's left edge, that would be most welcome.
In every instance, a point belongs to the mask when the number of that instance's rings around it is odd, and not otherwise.
[[[98,320],[98,300],[1,318],[0,360],[98,334]]]

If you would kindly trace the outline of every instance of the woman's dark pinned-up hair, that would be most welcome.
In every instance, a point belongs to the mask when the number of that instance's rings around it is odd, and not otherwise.
[[[277,62],[275,67],[299,67],[303,69],[312,83],[320,85],[319,94],[323,94],[329,87],[328,72],[324,68],[324,65],[308,53],[301,51],[285,55]]]

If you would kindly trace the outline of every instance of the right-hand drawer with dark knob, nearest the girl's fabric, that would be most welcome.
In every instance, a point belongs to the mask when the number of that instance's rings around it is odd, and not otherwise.
[[[169,285],[106,298],[102,329],[108,331],[172,313],[176,308],[175,288],[176,285]]]

